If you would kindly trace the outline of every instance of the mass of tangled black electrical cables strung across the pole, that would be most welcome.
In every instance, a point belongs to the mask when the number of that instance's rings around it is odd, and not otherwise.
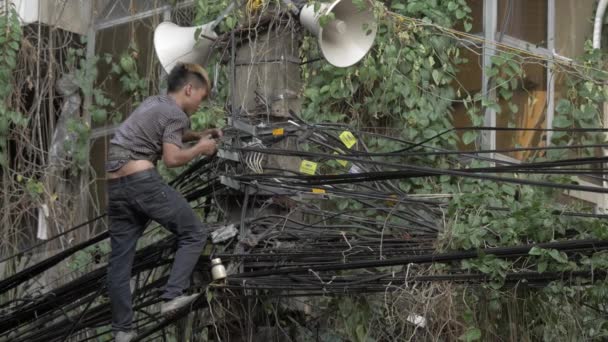
[[[533,247],[555,249],[569,258],[608,249],[608,242],[601,240],[567,240],[439,253],[437,239],[445,231],[445,215],[451,196],[413,195],[397,182],[450,176],[606,193],[608,191],[599,186],[565,184],[550,178],[556,174],[582,173],[603,181],[604,171],[597,166],[606,162],[605,157],[505,162],[491,157],[501,150],[450,151],[428,146],[432,139],[407,142],[344,125],[311,125],[295,115],[294,118],[272,127],[244,122],[236,129],[233,125],[225,130],[218,158],[201,159],[171,181],[171,185],[195,203],[205,216],[215,215],[214,220],[225,223],[214,225],[214,231],[232,225],[238,232],[218,241],[208,256],[219,257],[228,264],[228,278],[224,282],[213,282],[208,276],[207,257],[201,258],[195,271],[198,278],[194,282],[195,290],[212,289],[218,291],[221,298],[238,299],[252,295],[317,296],[397,291],[409,283],[475,285],[492,279],[483,273],[463,273],[451,266],[453,262],[480,255],[518,260],[527,256]],[[403,147],[395,151],[370,152],[371,148],[366,145],[370,138],[396,141]],[[277,145],[281,148],[274,147]],[[590,146],[571,148],[586,147]],[[554,148],[558,147],[534,149]],[[451,167],[418,164],[420,158],[434,155],[445,157]],[[277,158],[284,159],[277,163]],[[463,167],[470,159],[479,159],[488,165]],[[498,176],[500,174],[529,176]],[[508,212],[509,209],[493,207],[490,210]],[[235,217],[235,212],[240,215]],[[571,218],[606,218],[592,213],[552,213]],[[107,232],[100,234],[0,281],[0,294],[31,281],[107,236]],[[209,304],[201,296],[188,310],[171,319],[161,319],[156,313],[158,291],[166,280],[174,244],[172,237],[163,238],[136,254],[133,276],[138,286],[133,298],[140,339],[164,339],[165,329],[170,324],[185,317],[189,310],[202,310]],[[444,264],[447,268],[434,272],[425,267],[431,264]],[[505,286],[526,281],[529,286],[542,287],[554,280],[571,281],[600,277],[601,274],[513,271],[506,274],[504,281]],[[102,265],[60,287],[2,303],[0,339],[46,342],[72,336],[80,341],[93,340],[108,332],[103,328],[110,320],[104,292],[105,267]]]

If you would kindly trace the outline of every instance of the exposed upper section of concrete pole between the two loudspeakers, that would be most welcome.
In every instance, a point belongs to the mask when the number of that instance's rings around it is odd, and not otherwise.
[[[290,111],[300,113],[302,109],[301,30],[297,18],[285,6],[268,8],[258,17],[250,17],[252,26],[264,20],[269,20],[264,30],[251,31],[236,49],[233,113],[266,125],[286,123],[291,118]],[[273,148],[289,145],[290,140],[286,139]],[[297,171],[298,161],[293,157],[272,157],[267,165]]]

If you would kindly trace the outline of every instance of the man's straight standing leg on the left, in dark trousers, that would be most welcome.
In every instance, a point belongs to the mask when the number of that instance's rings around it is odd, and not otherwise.
[[[110,202],[110,242],[112,252],[108,267],[108,292],[112,307],[112,330],[129,331],[133,321],[131,269],[137,240],[147,219],[133,212],[125,203]]]

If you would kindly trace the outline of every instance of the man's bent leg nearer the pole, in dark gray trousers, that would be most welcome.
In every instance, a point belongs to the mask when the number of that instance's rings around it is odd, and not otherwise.
[[[207,231],[180,193],[164,183],[155,187],[160,189],[157,194],[138,202],[150,218],[177,235],[175,259],[161,296],[170,300],[182,295],[190,286],[190,275],[205,246]]]

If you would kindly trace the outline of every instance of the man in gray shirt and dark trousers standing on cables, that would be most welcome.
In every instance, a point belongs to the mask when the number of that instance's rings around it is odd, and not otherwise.
[[[178,64],[170,72],[168,94],[147,98],[120,125],[110,141],[108,163],[108,216],[112,252],[108,268],[108,291],[112,306],[112,331],[116,341],[130,341],[132,330],[131,267],[137,240],[149,220],[160,223],[177,236],[177,252],[169,280],[161,296],[161,313],[170,315],[190,304],[196,295],[183,291],[202,252],[207,233],[188,204],[165,184],[155,163],[167,167],[185,165],[199,155],[211,156],[219,138],[217,129],[201,133],[187,131],[189,117],[211,91],[205,69],[196,64]],[[199,139],[192,147],[182,141]]]

